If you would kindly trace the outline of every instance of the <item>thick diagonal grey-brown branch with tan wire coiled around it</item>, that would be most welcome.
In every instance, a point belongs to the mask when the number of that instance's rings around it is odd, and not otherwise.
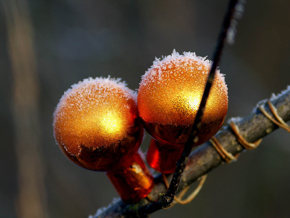
[[[290,120],[290,86],[278,96],[272,96],[271,102],[277,108],[280,117],[285,121]],[[259,105],[264,105],[265,110],[271,114],[266,101],[261,101]],[[262,112],[257,109],[257,106],[251,114],[244,118],[231,119],[239,127],[241,135],[248,142],[256,140],[270,134],[278,126],[273,124]],[[240,153],[244,148],[238,143],[235,135],[229,126],[224,127],[215,137],[222,146],[233,155]],[[200,176],[207,174],[213,168],[221,165],[223,160],[216,152],[213,146],[207,142],[202,146],[197,147],[189,156],[186,168],[179,185],[179,191],[187,185],[193,183]],[[172,177],[172,175],[168,176]],[[166,192],[166,187],[162,181],[161,174],[155,177],[155,187],[148,195],[151,200],[157,200],[160,193]],[[148,199],[143,199],[135,204],[123,203],[120,199],[113,201],[107,208],[101,208],[94,216],[90,218],[121,218],[121,217],[138,217],[138,211],[149,203]]]

